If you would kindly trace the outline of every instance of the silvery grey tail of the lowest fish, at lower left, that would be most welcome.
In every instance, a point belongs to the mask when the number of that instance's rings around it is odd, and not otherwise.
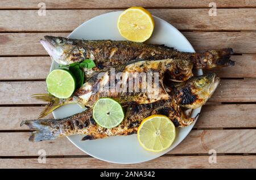
[[[30,140],[31,142],[40,142],[42,140],[56,139],[58,134],[52,133],[51,131],[51,119],[43,120],[23,120],[20,126],[27,125],[30,130]]]

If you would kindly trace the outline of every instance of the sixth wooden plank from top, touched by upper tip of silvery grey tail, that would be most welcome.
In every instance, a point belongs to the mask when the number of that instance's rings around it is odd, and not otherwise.
[[[23,119],[36,119],[43,107],[0,107],[0,130],[28,130],[20,127]],[[204,105],[194,127],[256,127],[256,106],[242,105]],[[49,114],[44,119],[53,118]]]

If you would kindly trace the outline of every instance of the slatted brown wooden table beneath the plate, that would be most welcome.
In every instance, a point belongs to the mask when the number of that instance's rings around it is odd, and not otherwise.
[[[46,3],[39,16],[38,3]],[[256,168],[256,1],[0,1],[0,168]],[[217,16],[209,16],[209,3]],[[142,164],[117,165],[85,155],[67,138],[28,142],[22,119],[35,119],[46,92],[51,58],[40,45],[44,35],[67,36],[81,23],[106,12],[146,7],[170,22],[196,51],[231,47],[236,66],[216,70],[221,85],[203,106],[190,134],[166,155]],[[52,115],[48,115],[52,118]],[[38,151],[46,151],[46,163]],[[209,162],[209,150],[217,163]]]

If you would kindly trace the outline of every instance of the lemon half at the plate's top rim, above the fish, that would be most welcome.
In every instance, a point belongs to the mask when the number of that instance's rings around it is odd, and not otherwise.
[[[154,20],[143,7],[130,7],[119,15],[117,27],[127,40],[144,42],[152,35]]]

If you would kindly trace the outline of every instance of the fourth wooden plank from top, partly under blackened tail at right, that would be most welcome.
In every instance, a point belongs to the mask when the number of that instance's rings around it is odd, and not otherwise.
[[[235,66],[205,72],[216,72],[221,78],[256,78],[256,55],[233,55],[231,59]],[[50,57],[0,57],[0,80],[45,79],[51,62]]]

